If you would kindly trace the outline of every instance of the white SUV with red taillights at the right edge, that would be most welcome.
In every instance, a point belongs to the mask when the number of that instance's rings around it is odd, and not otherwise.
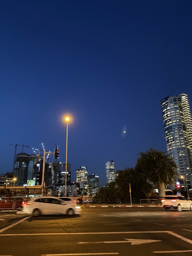
[[[184,196],[165,196],[161,203],[166,211],[169,209],[176,209],[177,211],[190,209],[192,211],[192,201]]]

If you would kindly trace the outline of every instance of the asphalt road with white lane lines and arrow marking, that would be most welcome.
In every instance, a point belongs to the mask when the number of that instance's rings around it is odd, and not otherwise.
[[[82,208],[81,216],[0,212],[0,256],[192,255],[192,211]]]

